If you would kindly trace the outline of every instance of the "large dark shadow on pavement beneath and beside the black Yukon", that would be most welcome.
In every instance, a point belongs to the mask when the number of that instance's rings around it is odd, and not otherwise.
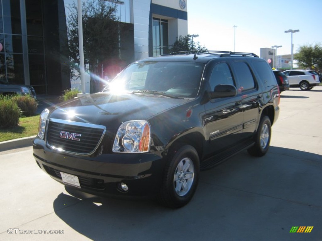
[[[181,209],[153,201],[60,193],[55,214],[92,240],[290,240],[294,225],[322,237],[322,156],[271,146],[246,151],[200,174],[194,198]],[[313,185],[314,183],[314,185]],[[297,239],[293,239],[297,240]]]

